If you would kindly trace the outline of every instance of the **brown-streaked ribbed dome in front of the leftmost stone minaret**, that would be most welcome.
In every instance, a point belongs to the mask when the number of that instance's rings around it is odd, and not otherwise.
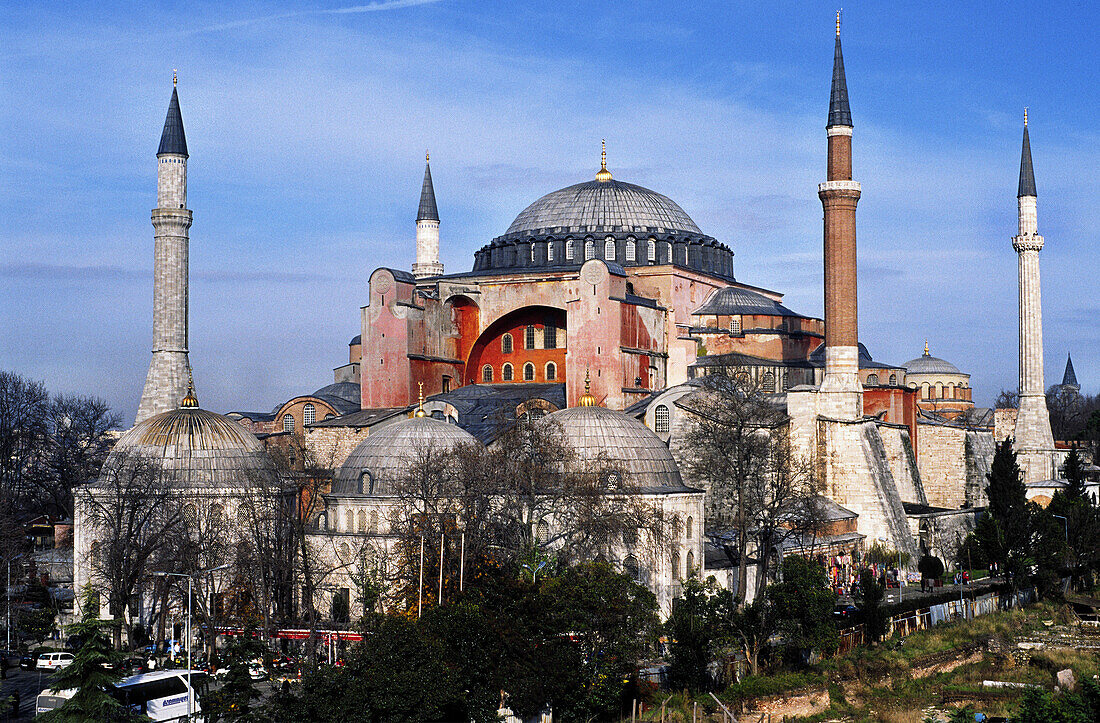
[[[179,486],[242,486],[250,475],[275,474],[264,446],[228,417],[180,407],[150,417],[122,435],[102,476],[151,464]]]

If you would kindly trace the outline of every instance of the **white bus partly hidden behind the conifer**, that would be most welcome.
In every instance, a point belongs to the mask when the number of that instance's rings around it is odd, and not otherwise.
[[[202,693],[206,691],[207,676],[191,671],[191,686]],[[135,713],[144,713],[154,721],[186,721],[187,701],[191,691],[187,688],[186,670],[157,670],[123,678],[111,687],[111,695]],[[53,691],[46,689],[38,695],[36,713],[46,713],[65,704],[76,690]],[[202,706],[196,695],[191,713],[201,713]]]

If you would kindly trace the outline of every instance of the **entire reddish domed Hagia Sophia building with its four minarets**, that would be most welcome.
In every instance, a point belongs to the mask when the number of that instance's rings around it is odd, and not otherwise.
[[[861,187],[853,176],[853,131],[838,23],[826,124],[828,174],[817,189],[824,212],[824,319],[792,310],[778,291],[739,281],[727,244],[700,229],[671,198],[616,178],[606,152],[594,177],[535,200],[474,254],[469,271],[447,273],[439,260],[446,213],[426,163],[416,263],[410,271],[380,267],[370,274],[360,333],[332,383],[271,412],[223,416],[198,409],[188,386],[191,211],[174,87],[152,216],[153,361],[136,425],[117,449],[160,446],[164,464],[174,469],[217,470],[206,474],[210,480],[196,472],[187,484],[205,491],[199,497],[206,504],[220,497],[217,504],[229,514],[233,464],[254,474],[266,469],[256,461],[257,450],[301,435],[333,471],[311,539],[339,560],[354,557],[364,540],[389,544],[384,513],[395,503],[394,475],[426,445],[492,445],[519,417],[551,417],[580,458],[615,460],[637,494],[680,522],[680,539],[667,554],[646,556],[628,546],[613,551],[617,563],[653,589],[667,613],[685,576],[714,574],[724,584],[736,583],[728,556],[715,544],[727,530],[706,527],[707,484],[683,471],[691,424],[684,402],[700,393],[707,374],[733,369],[785,409],[793,448],[823,483],[829,525],[815,541],[815,555],[835,580],[850,574],[872,544],[910,552],[914,562],[922,551],[950,559],[985,505],[994,435],[1026,441],[1022,449],[1037,460],[1027,467],[1028,482],[1056,476],[1049,425],[1044,436],[1035,412],[1042,331],[1040,326],[1036,360],[1032,322],[1040,319],[1042,237],[1034,226],[1026,127],[1015,247],[1030,386],[1020,420],[998,417],[1015,425],[1008,432],[994,429],[991,410],[975,408],[969,374],[933,357],[928,344],[911,361],[890,364],[859,342]],[[1024,391],[1023,361],[1021,366]],[[189,435],[186,443],[173,437],[177,434]],[[79,502],[76,518],[80,582],[89,576],[87,566],[81,572],[80,550],[90,549],[95,532],[87,523],[80,529]],[[802,549],[798,539],[784,544],[789,552]],[[333,582],[331,595],[346,595],[346,580]]]

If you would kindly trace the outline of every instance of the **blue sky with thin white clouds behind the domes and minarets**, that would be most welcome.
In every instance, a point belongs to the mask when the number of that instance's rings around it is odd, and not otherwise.
[[[331,381],[366,280],[406,269],[431,150],[442,261],[615,177],[676,200],[737,277],[820,316],[835,4],[0,2],[0,369],[132,419],[148,364],[155,153],[179,69],[190,347],[205,407]],[[1046,381],[1100,387],[1100,11],[851,3],[860,340],[927,338],[988,404],[1016,383],[1022,111]]]

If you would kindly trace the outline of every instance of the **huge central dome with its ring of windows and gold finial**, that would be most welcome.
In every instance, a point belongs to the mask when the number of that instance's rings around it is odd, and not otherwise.
[[[668,196],[615,180],[606,161],[595,180],[547,194],[524,209],[474,254],[474,271],[570,267],[591,259],[734,277],[729,247],[703,233]]]

